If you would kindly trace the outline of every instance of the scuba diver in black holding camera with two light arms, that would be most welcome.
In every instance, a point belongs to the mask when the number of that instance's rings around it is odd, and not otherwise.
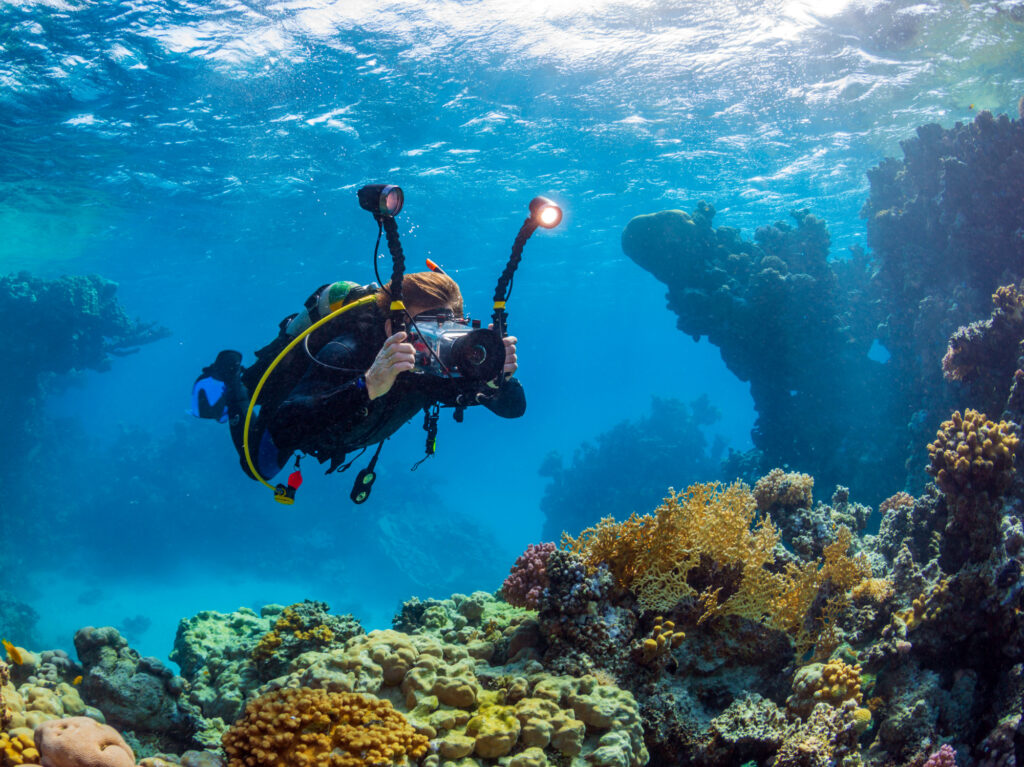
[[[418,412],[424,414],[426,456],[414,469],[434,453],[441,407],[453,408],[457,422],[477,404],[503,418],[525,413],[522,385],[513,377],[517,339],[505,333],[505,301],[526,239],[538,225],[556,225],[561,212],[543,198],[530,203],[530,218],[499,280],[494,322],[483,329],[478,319],[464,318],[458,284],[435,263],[427,261],[430,271],[404,274],[393,220],[402,200],[396,186],[359,190],[360,205],[379,226],[375,266],[381,233],[387,233],[390,282],[383,288],[322,286],[302,311],[280,323],[278,337],[256,352],[252,366],[242,368],[242,354],[224,350],[194,384],[193,415],[226,421],[243,470],[282,503],[292,503],[302,482],[299,458],[287,484],[274,487],[267,480],[296,453],[328,463],[330,474],[376,444],[349,496],[358,504],[376,480],[384,441]]]

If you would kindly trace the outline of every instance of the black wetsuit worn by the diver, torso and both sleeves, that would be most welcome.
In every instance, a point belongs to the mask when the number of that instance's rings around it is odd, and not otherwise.
[[[362,376],[387,340],[376,307],[372,317],[352,323],[326,343],[280,404],[261,414],[261,425],[278,448],[282,466],[293,453],[301,452],[321,463],[330,461],[335,469],[346,454],[386,439],[434,402],[456,403],[458,380],[414,372],[399,374],[386,394],[370,399]],[[470,401],[503,418],[518,418],[526,410],[522,385],[514,378],[493,396]]]

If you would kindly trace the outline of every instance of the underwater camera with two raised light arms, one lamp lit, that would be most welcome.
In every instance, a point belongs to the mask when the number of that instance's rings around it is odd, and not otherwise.
[[[374,248],[374,267],[380,247],[380,232],[387,233],[394,271],[391,275],[391,322],[395,330],[406,330],[406,321],[412,324],[410,342],[416,349],[416,367],[419,374],[445,379],[462,379],[467,384],[483,384],[504,380],[505,343],[508,314],[505,304],[512,290],[512,275],[522,258],[522,249],[530,235],[539,227],[550,229],[562,220],[562,211],[547,198],[537,197],[529,203],[529,216],[523,222],[512,244],[512,255],[498,280],[495,290],[494,323],[492,328],[481,328],[479,319],[455,317],[451,311],[436,311],[411,317],[401,301],[401,280],[404,274],[404,254],[398,241],[394,216],[401,210],[404,195],[392,184],[372,184],[358,190],[359,207],[369,211],[377,220],[377,247]],[[443,270],[433,261],[427,265],[434,271]],[[380,274],[377,275],[378,282]],[[382,283],[383,284],[383,283]]]

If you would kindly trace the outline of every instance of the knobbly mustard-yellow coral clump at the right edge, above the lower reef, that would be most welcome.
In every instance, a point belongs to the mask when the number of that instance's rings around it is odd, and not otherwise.
[[[1017,441],[1012,423],[993,423],[970,409],[963,416],[955,411],[928,445],[928,473],[954,501],[998,497],[1013,481]]]

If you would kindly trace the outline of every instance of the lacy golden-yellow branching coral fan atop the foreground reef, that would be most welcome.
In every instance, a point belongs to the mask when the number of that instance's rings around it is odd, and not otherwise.
[[[634,514],[622,523],[606,518],[562,543],[588,567],[607,565],[643,609],[666,611],[692,597],[702,607],[701,622],[740,615],[793,635],[803,632],[825,581],[846,592],[870,574],[866,561],[848,556],[845,527],[825,547],[823,563],[770,570],[778,531],[769,518],[756,516],[756,501],[742,482],[695,484],[671,492],[653,516]]]

